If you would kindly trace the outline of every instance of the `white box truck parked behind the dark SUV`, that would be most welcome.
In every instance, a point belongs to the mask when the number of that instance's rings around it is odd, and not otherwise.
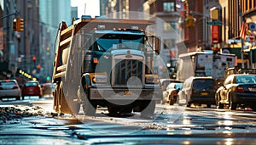
[[[189,76],[212,76],[215,81],[224,81],[226,70],[237,65],[235,54],[190,52],[177,58],[177,80],[185,81]]]

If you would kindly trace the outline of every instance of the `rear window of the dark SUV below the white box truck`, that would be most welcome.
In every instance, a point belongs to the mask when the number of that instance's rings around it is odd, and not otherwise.
[[[193,89],[214,89],[214,81],[210,79],[196,79],[193,81]]]

